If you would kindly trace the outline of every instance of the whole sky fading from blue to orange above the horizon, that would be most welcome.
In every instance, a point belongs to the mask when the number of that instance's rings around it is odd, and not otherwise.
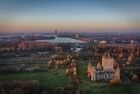
[[[140,0],[0,0],[0,32],[140,29]]]

